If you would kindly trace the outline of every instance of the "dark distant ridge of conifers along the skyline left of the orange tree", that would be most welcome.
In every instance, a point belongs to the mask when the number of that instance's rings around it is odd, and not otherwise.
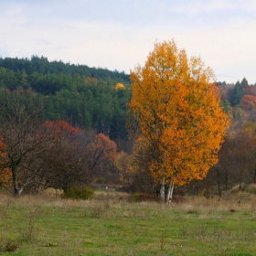
[[[32,56],[31,59],[0,58],[0,67],[14,71],[24,69],[27,75],[31,75],[34,72],[44,75],[68,73],[71,75],[80,74],[81,76],[97,79],[110,78],[113,80],[129,81],[129,75],[124,72],[102,68],[90,68],[86,65],[64,63],[61,60],[48,61],[48,58],[43,56],[41,58]]]

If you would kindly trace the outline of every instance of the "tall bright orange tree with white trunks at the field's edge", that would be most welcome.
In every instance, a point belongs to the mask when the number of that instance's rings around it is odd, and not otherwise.
[[[144,67],[131,71],[130,112],[150,144],[151,174],[161,198],[171,199],[174,185],[202,179],[218,162],[228,127],[220,107],[213,71],[199,58],[187,59],[174,41],[155,43]]]

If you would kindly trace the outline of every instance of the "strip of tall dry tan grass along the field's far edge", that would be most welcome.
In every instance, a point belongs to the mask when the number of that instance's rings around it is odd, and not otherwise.
[[[56,208],[74,208],[83,206],[95,206],[101,204],[111,204],[116,208],[122,207],[123,203],[129,202],[129,195],[122,192],[95,192],[91,200],[73,200],[62,199],[60,194],[40,194],[40,195],[22,195],[13,197],[8,193],[1,193],[0,206],[13,207],[56,207]],[[255,211],[256,210],[256,195],[247,192],[237,194],[227,193],[223,197],[185,197],[186,200],[179,203],[171,203],[169,205],[158,202],[144,201],[134,203],[135,206],[142,205],[144,208],[171,208],[181,211],[229,211],[230,209],[240,211]],[[132,204],[131,204],[132,205]]]

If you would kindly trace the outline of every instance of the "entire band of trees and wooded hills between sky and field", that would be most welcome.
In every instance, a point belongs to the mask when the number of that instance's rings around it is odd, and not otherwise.
[[[43,57],[0,67],[1,184],[17,195],[111,176],[163,200],[175,185],[221,196],[256,182],[255,85],[215,84],[174,41],[155,44],[132,85],[124,73]]]

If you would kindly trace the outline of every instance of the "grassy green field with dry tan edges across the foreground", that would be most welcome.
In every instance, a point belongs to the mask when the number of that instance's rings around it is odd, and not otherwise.
[[[130,203],[0,195],[0,255],[256,255],[255,196]]]

